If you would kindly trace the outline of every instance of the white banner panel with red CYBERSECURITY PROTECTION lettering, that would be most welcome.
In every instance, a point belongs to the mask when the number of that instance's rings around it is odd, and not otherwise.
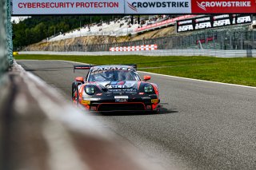
[[[124,14],[124,0],[13,0],[13,15]]]

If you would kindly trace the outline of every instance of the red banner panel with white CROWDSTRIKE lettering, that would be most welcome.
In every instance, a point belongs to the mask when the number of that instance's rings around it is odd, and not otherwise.
[[[191,0],[193,14],[250,14],[255,0]]]

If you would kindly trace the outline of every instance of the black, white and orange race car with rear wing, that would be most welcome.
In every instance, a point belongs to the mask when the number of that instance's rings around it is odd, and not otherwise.
[[[97,112],[159,112],[158,85],[146,82],[150,76],[142,80],[137,65],[74,65],[75,69],[89,69],[86,78],[76,77],[72,84],[75,105]]]

